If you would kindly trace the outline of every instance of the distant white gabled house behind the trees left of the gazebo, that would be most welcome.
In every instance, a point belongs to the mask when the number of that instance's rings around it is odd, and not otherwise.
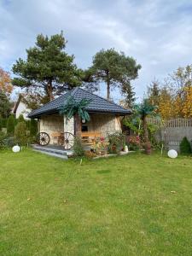
[[[28,113],[30,113],[32,110],[27,108],[26,104],[22,102],[22,95],[19,95],[19,98],[17,102],[15,102],[15,106],[12,110],[12,112],[15,114],[15,118],[18,119],[20,114],[23,115],[24,119],[28,119]]]

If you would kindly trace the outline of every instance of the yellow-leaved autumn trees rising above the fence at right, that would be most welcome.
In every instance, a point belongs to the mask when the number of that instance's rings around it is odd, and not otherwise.
[[[162,119],[192,117],[192,65],[178,67],[161,83],[148,87],[149,102],[157,105]]]

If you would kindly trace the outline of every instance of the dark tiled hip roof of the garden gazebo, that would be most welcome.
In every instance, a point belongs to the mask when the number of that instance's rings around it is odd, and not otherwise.
[[[65,102],[67,102],[68,96],[73,96],[74,100],[78,102],[83,98],[90,99],[90,104],[85,108],[89,113],[117,113],[121,115],[131,113],[130,109],[122,108],[121,106],[113,102],[109,102],[101,96],[97,96],[87,90],[76,87],[75,89],[69,90],[67,93],[56,98],[52,102],[45,104],[43,107],[32,111],[32,113],[29,113],[28,117],[34,119],[44,114],[58,113],[59,108],[61,108]]]

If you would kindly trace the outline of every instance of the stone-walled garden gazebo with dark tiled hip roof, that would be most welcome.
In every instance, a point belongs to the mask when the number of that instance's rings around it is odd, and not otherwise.
[[[86,108],[90,113],[89,122],[79,119],[78,115],[66,122],[65,116],[59,114],[59,108],[67,102],[68,96],[73,96],[77,102],[83,98],[91,100]],[[88,133],[99,133],[102,137],[106,137],[108,133],[121,131],[120,117],[130,113],[131,110],[129,109],[122,108],[101,96],[96,96],[87,90],[77,87],[45,104],[43,107],[32,111],[28,116],[31,119],[38,119],[39,131],[49,134],[49,144],[54,144],[55,132],[69,132],[74,136],[81,137],[85,133],[86,135]]]

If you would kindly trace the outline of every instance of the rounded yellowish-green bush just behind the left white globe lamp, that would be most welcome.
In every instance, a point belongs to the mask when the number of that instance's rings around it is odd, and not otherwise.
[[[25,146],[29,142],[27,136],[27,129],[25,122],[19,122],[15,126],[15,143],[18,143],[20,146]]]

